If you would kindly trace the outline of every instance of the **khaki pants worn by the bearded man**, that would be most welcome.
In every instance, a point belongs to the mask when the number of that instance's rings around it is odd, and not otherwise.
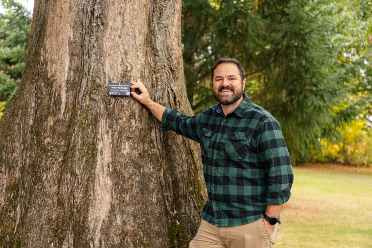
[[[276,223],[270,237],[263,218],[246,225],[222,227],[202,219],[189,248],[272,248],[278,232],[279,223]]]

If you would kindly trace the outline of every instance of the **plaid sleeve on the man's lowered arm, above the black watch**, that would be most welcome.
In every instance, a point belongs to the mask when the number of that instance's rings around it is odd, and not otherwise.
[[[256,147],[267,172],[266,204],[279,205],[291,197],[293,171],[287,146],[277,120],[268,117],[259,127]]]

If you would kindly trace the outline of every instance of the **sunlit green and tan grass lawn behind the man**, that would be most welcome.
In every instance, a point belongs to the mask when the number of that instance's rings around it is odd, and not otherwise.
[[[372,168],[294,167],[279,247],[372,248]]]

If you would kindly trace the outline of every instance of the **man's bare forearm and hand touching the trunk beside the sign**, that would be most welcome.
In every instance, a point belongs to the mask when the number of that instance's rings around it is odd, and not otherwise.
[[[150,109],[151,113],[153,113],[153,115],[158,120],[160,120],[160,122],[161,122],[161,117],[163,116],[165,107],[161,106],[160,104],[155,103],[153,100],[151,100],[146,87],[144,86],[144,84],[141,81],[136,80],[135,82],[132,82],[131,88],[132,89],[137,89],[138,88],[142,92],[142,94],[139,95],[139,94],[132,91],[131,95],[135,99],[140,101],[140,103],[142,103],[146,107],[148,107],[148,109]]]

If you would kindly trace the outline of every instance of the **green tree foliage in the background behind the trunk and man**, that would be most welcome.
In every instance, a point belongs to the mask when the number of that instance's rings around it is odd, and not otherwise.
[[[0,116],[22,76],[31,25],[22,5],[1,3]],[[343,142],[356,119],[371,138],[370,1],[183,0],[182,43],[194,112],[216,104],[215,60],[238,59],[246,93],[279,120],[294,164],[321,154],[319,141]]]

